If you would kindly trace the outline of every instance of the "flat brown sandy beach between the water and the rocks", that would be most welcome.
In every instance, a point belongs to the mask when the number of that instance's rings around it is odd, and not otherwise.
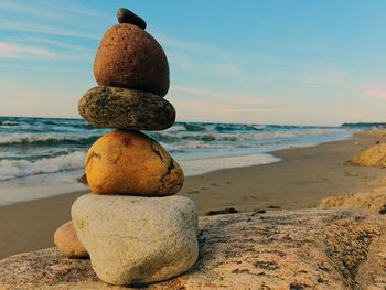
[[[240,212],[313,207],[324,197],[376,186],[384,170],[352,167],[346,161],[379,138],[384,137],[360,133],[345,141],[275,151],[281,162],[190,176],[181,194],[197,204],[201,215],[226,207]],[[53,246],[53,233],[71,218],[71,205],[82,194],[0,207],[0,258]]]

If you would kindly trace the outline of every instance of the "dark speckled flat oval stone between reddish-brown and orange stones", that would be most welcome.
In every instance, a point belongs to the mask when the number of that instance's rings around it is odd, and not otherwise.
[[[104,128],[164,130],[175,120],[173,106],[154,94],[119,87],[94,87],[78,105],[88,122]]]

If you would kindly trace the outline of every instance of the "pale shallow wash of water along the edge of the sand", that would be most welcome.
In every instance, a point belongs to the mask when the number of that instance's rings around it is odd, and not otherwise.
[[[355,132],[353,132],[353,135],[350,137],[344,137],[344,139],[342,140],[289,147],[267,152],[262,151],[255,153],[229,154],[203,159],[197,158],[180,161],[178,160],[178,162],[184,169],[185,179],[189,179],[211,174],[223,170],[236,170],[240,168],[260,167],[271,163],[279,163],[282,162],[282,159],[276,153],[280,154],[280,152],[283,150],[312,148],[324,143],[341,142],[353,138],[355,138]],[[0,183],[0,207],[23,202],[33,202],[37,200],[61,196],[65,194],[87,192],[87,185],[77,182],[77,179],[84,174],[84,170],[79,169],[75,172],[77,172],[78,176],[75,176],[71,171],[62,171],[53,172],[50,174],[44,173],[24,176],[21,182],[17,182],[15,180],[9,180],[6,181],[6,183]],[[34,180],[35,176],[37,179],[41,179],[43,182],[36,182]],[[11,195],[9,194],[9,189],[12,189]]]

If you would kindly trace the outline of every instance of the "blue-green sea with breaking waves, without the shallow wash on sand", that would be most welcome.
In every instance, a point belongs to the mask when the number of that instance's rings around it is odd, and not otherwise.
[[[0,181],[82,169],[84,153],[81,151],[86,151],[110,130],[95,128],[82,119],[0,117]],[[146,133],[175,153],[180,161],[315,144],[344,139],[351,136],[352,130],[311,126],[176,122],[168,130]]]

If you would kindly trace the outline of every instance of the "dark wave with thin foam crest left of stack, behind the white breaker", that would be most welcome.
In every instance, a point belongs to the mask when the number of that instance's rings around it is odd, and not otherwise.
[[[2,146],[88,146],[95,142],[100,136],[54,136],[54,135],[31,135],[14,133],[0,136],[0,147]]]

